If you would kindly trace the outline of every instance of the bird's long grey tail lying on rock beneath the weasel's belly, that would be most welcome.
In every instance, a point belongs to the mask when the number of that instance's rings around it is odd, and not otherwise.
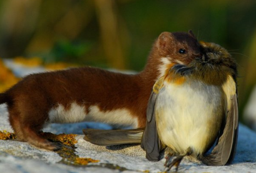
[[[144,128],[140,129],[84,129],[84,139],[98,146],[112,146],[117,144],[140,144]]]

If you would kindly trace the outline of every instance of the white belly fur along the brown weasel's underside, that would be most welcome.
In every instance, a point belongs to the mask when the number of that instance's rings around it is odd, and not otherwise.
[[[71,103],[68,110],[58,105],[49,111],[49,123],[79,123],[82,121],[97,121],[101,123],[118,124],[120,126],[132,126],[137,128],[137,119],[130,114],[130,111],[123,108],[112,111],[101,111],[98,106],[90,106],[89,113],[86,107]]]

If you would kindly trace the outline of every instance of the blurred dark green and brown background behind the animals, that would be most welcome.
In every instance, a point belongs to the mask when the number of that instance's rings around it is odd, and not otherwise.
[[[161,32],[189,29],[236,58],[242,117],[256,83],[255,0],[0,1],[1,58],[140,71]]]

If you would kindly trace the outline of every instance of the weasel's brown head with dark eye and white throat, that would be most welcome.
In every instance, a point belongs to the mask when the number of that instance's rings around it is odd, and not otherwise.
[[[173,65],[189,65],[192,60],[202,57],[202,48],[192,31],[162,32],[155,42],[154,58],[160,61],[160,76],[164,75]],[[155,59],[156,60],[156,59]]]

